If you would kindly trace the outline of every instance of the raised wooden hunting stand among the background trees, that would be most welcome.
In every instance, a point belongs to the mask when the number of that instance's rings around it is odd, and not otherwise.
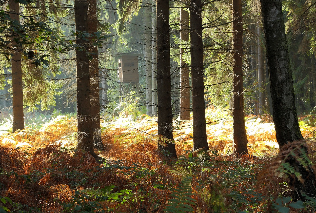
[[[131,91],[140,92],[138,83],[138,58],[143,54],[119,53],[118,83],[120,89],[120,101]]]

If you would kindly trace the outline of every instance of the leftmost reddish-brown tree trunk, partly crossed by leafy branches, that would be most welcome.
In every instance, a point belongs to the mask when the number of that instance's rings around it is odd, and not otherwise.
[[[9,0],[10,18],[20,22],[19,3]],[[12,132],[24,129],[24,112],[23,112],[23,80],[22,80],[22,63],[21,63],[21,46],[14,40],[19,39],[13,36],[11,47],[13,56],[11,57],[12,67],[12,101],[13,101],[13,128]]]

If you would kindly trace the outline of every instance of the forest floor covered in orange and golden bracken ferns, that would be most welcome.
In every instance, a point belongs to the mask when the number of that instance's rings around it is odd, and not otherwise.
[[[104,150],[76,150],[74,115],[26,116],[10,133],[1,113],[2,212],[314,212],[316,200],[291,201],[269,115],[246,116],[250,155],[237,158],[228,111],[206,110],[209,155],[191,152],[192,120],[174,123],[178,159],[157,150],[156,118],[121,114],[102,119]],[[315,148],[315,115],[299,118]],[[311,152],[315,153],[315,152]],[[315,155],[310,156],[312,160]],[[274,164],[271,164],[274,163]],[[277,166],[270,166],[277,165]]]

